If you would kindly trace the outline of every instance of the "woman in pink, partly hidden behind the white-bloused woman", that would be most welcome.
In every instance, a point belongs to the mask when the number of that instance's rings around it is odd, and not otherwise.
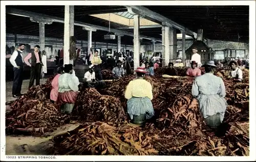
[[[59,67],[57,69],[58,74],[52,80],[52,90],[50,93],[50,99],[53,101],[57,101],[58,98],[58,88],[59,88],[59,76],[63,73],[63,67]]]

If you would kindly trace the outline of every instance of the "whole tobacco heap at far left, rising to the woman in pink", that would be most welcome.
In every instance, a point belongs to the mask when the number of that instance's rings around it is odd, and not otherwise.
[[[33,86],[24,96],[6,103],[6,133],[22,133],[43,136],[61,125],[69,123],[70,117],[61,114],[59,107],[50,101],[51,80]]]

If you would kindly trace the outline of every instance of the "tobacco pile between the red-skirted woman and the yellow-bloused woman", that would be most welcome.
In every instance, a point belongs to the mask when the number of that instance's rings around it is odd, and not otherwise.
[[[127,116],[118,98],[101,95],[94,88],[78,94],[73,116],[84,122],[123,122]]]

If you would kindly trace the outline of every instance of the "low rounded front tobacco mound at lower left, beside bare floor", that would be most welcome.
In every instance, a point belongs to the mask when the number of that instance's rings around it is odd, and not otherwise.
[[[6,130],[10,133],[19,130],[43,135],[69,122],[69,116],[49,101],[22,97],[11,106],[12,111],[6,115]]]

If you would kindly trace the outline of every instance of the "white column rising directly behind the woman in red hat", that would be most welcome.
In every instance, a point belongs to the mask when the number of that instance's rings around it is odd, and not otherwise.
[[[134,69],[140,66],[140,17],[139,15],[134,15]]]

